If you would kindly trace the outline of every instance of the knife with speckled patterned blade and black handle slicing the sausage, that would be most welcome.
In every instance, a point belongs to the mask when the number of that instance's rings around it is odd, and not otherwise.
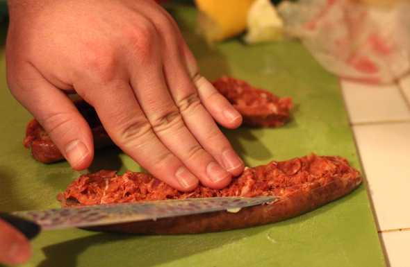
[[[243,207],[272,203],[274,196],[256,198],[188,198],[184,200],[156,200],[140,203],[120,203],[44,209],[26,212],[0,213],[0,218],[33,239],[41,230],[58,230],[69,227],[92,227],[134,221],[156,221],[208,212],[238,212]]]

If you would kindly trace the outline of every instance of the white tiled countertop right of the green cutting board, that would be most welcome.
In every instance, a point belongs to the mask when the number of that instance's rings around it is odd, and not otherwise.
[[[388,264],[410,267],[410,76],[341,85]]]

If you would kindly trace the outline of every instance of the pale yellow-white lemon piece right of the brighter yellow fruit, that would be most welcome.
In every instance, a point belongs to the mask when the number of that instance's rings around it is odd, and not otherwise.
[[[247,15],[245,42],[254,44],[280,40],[283,37],[284,21],[270,0],[256,0]]]

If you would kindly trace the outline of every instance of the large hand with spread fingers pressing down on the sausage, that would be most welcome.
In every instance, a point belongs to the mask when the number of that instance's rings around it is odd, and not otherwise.
[[[97,110],[108,134],[181,191],[219,189],[243,171],[217,127],[240,114],[206,80],[177,24],[152,0],[11,0],[10,90],[74,169],[92,162],[92,134],[67,98]]]

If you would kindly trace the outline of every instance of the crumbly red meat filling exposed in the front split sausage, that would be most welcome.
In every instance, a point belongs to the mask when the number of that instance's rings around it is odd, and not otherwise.
[[[60,195],[60,200],[79,205],[131,203],[144,200],[204,198],[217,196],[288,196],[304,187],[329,184],[336,178],[359,178],[342,157],[309,155],[284,162],[270,162],[263,166],[247,168],[224,189],[197,187],[184,193],[172,189],[147,173],[127,171],[99,171],[81,175]]]

